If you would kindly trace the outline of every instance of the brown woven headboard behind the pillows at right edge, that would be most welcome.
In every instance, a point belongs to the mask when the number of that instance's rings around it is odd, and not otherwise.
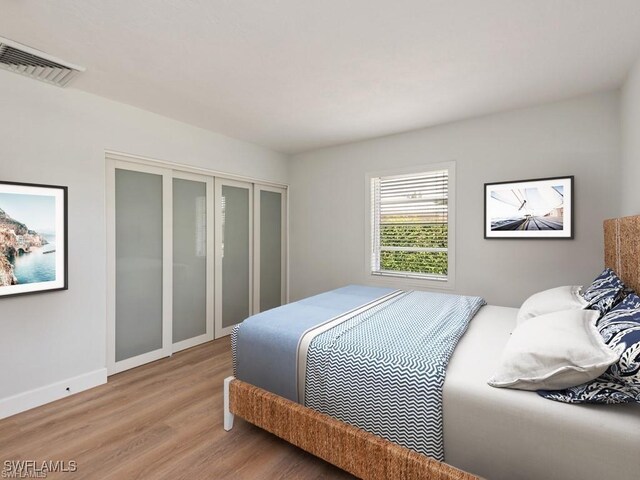
[[[640,215],[604,221],[604,265],[640,292]]]

